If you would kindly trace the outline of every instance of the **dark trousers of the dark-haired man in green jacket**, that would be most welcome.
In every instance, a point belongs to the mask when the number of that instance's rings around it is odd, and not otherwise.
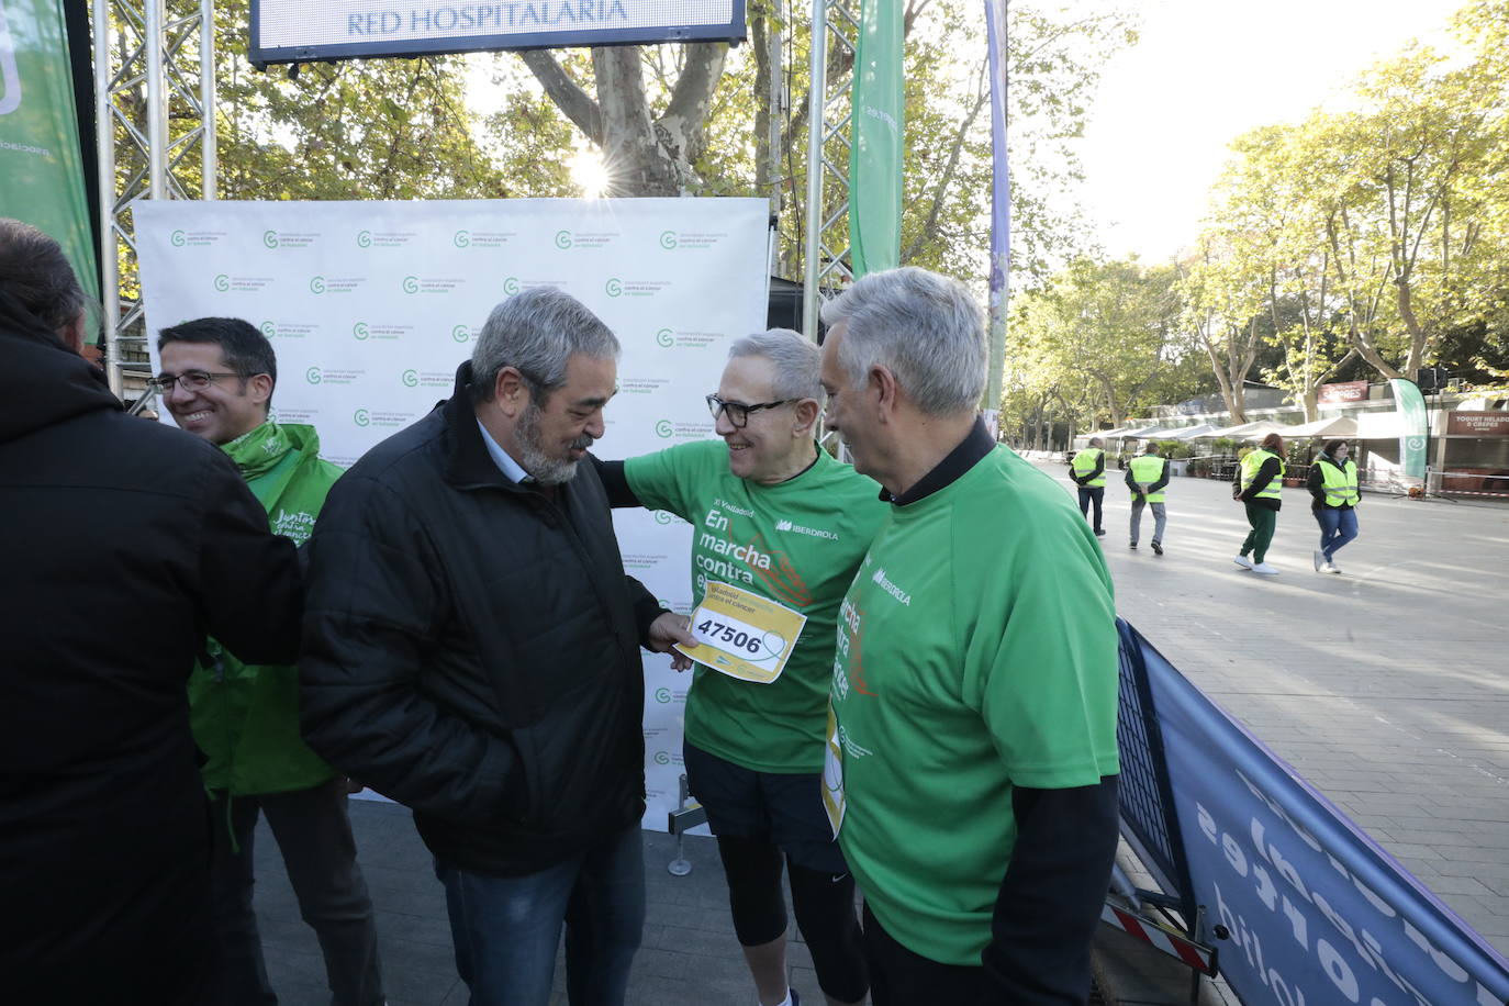
[[[220,941],[226,1001],[272,1006],[263,941],[252,911],[252,842],[257,814],[267,816],[273,839],[299,899],[299,914],[320,938],[324,974],[335,1006],[379,1006],[383,1001],[377,967],[377,929],[367,881],[356,866],[356,842],[346,814],[346,780],[312,789],[260,796],[211,799],[214,855],[214,928]],[[226,834],[226,819],[235,849]]]

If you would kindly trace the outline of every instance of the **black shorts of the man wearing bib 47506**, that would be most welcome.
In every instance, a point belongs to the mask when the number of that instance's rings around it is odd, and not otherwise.
[[[682,760],[687,789],[706,807],[712,834],[770,842],[797,866],[848,873],[822,808],[821,772],[756,772],[690,742],[682,744]]]

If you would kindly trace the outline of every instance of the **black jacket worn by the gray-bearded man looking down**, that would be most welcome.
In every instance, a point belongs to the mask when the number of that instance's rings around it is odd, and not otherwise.
[[[468,398],[367,452],[309,541],[305,739],[413,808],[436,857],[539,872],[644,811],[640,641],[592,465],[555,499],[509,481]]]

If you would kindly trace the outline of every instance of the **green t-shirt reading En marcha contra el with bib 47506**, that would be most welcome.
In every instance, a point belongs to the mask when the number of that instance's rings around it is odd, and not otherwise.
[[[691,523],[693,605],[712,579],[807,617],[770,685],[697,665],[687,739],[756,772],[821,771],[839,600],[886,517],[880,486],[821,449],[779,486],[745,481],[717,440],[629,459],[623,472],[641,504]]]

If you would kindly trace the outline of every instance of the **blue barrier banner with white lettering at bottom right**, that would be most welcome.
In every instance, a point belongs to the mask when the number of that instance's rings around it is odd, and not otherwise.
[[[1245,1006],[1509,1001],[1509,961],[1130,627],[1129,646],[1206,908],[1197,938]]]

